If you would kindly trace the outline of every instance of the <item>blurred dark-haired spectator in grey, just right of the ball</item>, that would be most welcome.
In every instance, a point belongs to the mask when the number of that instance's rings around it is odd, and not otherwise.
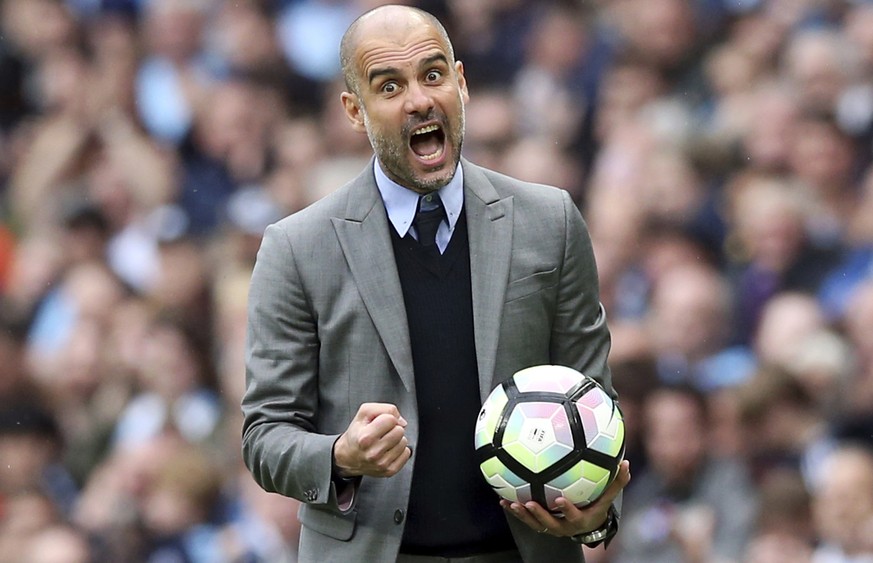
[[[625,496],[614,561],[739,561],[755,489],[739,460],[710,455],[704,396],[689,386],[657,388],[641,421],[648,466]]]

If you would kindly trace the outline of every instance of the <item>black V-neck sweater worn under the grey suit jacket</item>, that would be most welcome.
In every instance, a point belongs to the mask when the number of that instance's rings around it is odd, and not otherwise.
[[[419,435],[401,552],[463,557],[515,547],[474,457],[481,407],[464,213],[446,252],[391,230],[409,323]]]

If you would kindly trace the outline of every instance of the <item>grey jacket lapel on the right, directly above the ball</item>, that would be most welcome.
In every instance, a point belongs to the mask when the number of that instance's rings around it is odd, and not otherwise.
[[[512,198],[500,199],[481,169],[464,160],[464,205],[470,238],[473,328],[481,399],[491,392],[512,250]]]

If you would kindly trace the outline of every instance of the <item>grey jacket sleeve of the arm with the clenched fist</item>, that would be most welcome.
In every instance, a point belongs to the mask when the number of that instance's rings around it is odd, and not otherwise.
[[[249,288],[242,453],[255,481],[307,503],[336,504],[337,435],[317,433],[319,339],[291,241],[270,226]]]

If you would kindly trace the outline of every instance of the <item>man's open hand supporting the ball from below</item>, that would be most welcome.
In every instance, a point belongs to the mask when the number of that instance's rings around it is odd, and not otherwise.
[[[586,507],[577,508],[564,497],[555,501],[560,514],[552,514],[533,501],[522,504],[501,500],[500,505],[532,530],[558,537],[575,536],[601,527],[615,497],[629,482],[630,462],[624,460],[618,466],[618,475],[603,495]]]

